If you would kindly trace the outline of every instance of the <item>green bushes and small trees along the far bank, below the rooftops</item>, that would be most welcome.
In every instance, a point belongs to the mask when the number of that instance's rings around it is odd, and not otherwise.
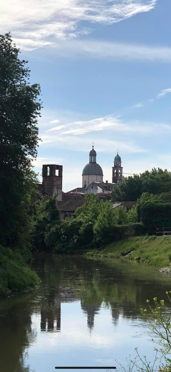
[[[46,203],[48,205],[49,201]],[[76,218],[60,221],[57,214],[57,219],[49,223],[46,211],[47,207],[43,218],[41,215],[44,231],[41,234],[38,219],[36,238],[43,238],[43,241],[39,242],[41,244],[39,246],[37,244],[38,249],[42,247],[56,252],[65,252],[92,243],[94,247],[98,247],[112,240],[144,233],[142,224],[132,223],[135,220],[135,210],[132,212],[131,219],[131,212],[129,217],[123,206],[113,208],[111,201],[99,202],[97,195],[94,194],[86,196],[86,202],[76,210]]]

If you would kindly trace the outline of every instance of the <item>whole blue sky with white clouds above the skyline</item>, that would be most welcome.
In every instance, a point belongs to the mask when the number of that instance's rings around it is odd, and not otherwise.
[[[171,170],[171,1],[7,0],[11,32],[43,101],[34,169],[63,165],[63,191],[82,185],[94,142],[104,181]]]

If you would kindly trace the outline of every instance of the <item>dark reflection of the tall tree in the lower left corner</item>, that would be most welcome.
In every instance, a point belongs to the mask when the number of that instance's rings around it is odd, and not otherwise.
[[[5,311],[3,305],[5,305]],[[31,329],[29,302],[16,301],[12,304],[10,298],[2,300],[0,334],[1,371],[29,372],[29,367],[24,367],[23,353],[36,337]]]

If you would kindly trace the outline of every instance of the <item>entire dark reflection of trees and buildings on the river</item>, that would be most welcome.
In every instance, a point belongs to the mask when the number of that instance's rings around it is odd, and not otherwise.
[[[156,275],[145,264],[120,260],[88,260],[79,256],[41,254],[33,265],[41,278],[39,287],[25,295],[5,299],[0,305],[0,360],[3,372],[32,372],[24,355],[36,334],[31,315],[40,314],[43,332],[60,331],[61,303],[81,302],[89,330],[101,305],[110,308],[111,320],[136,319],[147,298],[163,296],[169,278]],[[105,314],[104,314],[105,316]],[[10,353],[10,358],[8,357]]]

